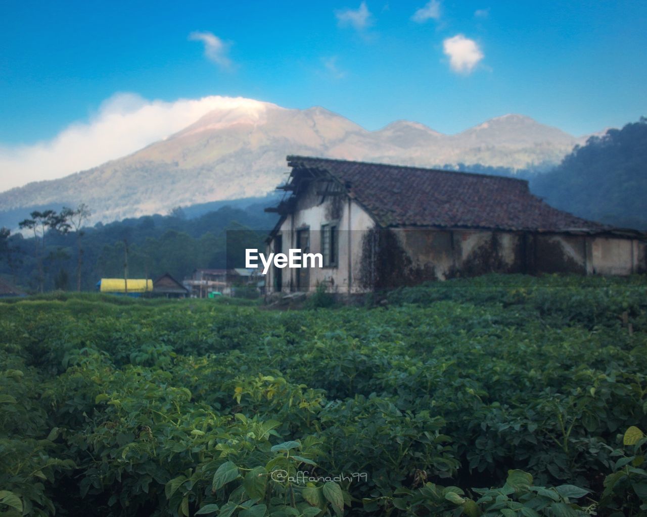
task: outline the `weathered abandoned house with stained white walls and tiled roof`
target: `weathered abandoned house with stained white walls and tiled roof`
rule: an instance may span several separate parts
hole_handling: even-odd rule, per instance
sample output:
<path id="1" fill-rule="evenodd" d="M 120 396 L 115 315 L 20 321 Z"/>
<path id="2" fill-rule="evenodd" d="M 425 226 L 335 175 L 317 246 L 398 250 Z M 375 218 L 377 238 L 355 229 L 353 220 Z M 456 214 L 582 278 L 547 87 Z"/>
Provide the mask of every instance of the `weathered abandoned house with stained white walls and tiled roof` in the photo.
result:
<path id="1" fill-rule="evenodd" d="M 489 272 L 645 271 L 645 233 L 555 209 L 526 180 L 288 156 L 267 253 L 321 253 L 322 268 L 270 268 L 267 293 L 362 293 Z"/>

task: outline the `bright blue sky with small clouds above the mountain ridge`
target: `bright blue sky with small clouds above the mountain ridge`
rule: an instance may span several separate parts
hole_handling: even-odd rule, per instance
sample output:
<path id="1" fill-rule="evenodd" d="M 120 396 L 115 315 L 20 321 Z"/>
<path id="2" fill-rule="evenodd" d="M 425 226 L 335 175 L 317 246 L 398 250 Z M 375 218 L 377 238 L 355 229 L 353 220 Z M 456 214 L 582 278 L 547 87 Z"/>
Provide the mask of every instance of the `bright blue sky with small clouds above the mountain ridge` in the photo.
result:
<path id="1" fill-rule="evenodd" d="M 641 1 L 134 4 L 0 3 L 0 147 L 52 139 L 118 92 L 445 133 L 514 112 L 578 136 L 647 114 Z"/>

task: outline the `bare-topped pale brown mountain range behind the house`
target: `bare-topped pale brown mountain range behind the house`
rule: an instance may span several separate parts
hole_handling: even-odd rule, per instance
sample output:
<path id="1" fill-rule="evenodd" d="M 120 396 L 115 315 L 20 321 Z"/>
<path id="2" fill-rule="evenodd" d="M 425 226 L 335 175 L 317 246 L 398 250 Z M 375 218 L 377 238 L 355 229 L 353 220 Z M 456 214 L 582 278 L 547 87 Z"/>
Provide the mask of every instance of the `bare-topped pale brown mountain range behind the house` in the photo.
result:
<path id="1" fill-rule="evenodd" d="M 520 169 L 558 163 L 578 140 L 529 117 L 506 115 L 454 135 L 397 121 L 378 131 L 321 107 L 285 109 L 247 100 L 207 113 L 136 153 L 65 178 L 0 193 L 0 224 L 31 209 L 92 207 L 94 222 L 264 196 L 289 169 L 287 154 L 419 165 L 482 164 Z M 10 224 L 11 223 L 11 224 Z"/>

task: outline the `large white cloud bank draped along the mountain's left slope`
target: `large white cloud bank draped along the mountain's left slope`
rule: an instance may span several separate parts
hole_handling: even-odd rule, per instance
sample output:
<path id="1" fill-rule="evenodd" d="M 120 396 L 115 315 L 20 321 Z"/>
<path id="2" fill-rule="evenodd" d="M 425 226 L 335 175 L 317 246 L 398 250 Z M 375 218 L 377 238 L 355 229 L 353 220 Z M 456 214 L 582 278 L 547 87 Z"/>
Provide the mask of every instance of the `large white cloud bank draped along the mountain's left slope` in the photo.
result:
<path id="1" fill-rule="evenodd" d="M 267 103 L 220 96 L 173 102 L 115 94 L 89 121 L 78 121 L 47 142 L 0 144 L 0 189 L 54 180 L 134 153 L 181 131 L 215 109 L 258 116 Z"/>

